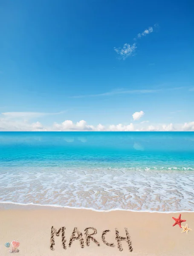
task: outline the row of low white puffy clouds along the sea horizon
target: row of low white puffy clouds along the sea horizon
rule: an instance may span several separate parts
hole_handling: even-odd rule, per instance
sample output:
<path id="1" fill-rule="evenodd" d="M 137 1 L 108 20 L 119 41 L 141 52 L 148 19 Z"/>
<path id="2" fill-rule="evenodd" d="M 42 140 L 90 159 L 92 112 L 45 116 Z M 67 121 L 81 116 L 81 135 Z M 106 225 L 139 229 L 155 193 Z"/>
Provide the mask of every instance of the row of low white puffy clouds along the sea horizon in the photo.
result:
<path id="1" fill-rule="evenodd" d="M 141 111 L 140 111 L 141 112 Z M 136 113 L 140 113 L 136 112 Z M 142 111 L 143 112 L 143 111 Z M 141 115 L 141 114 L 140 114 Z M 29 122 L 26 119 L 0 117 L 0 131 L 194 131 L 194 121 L 184 124 L 148 125 L 147 122 L 128 125 L 88 125 L 85 120 L 73 123 L 71 120 L 54 122 L 50 127 L 41 122 Z"/>

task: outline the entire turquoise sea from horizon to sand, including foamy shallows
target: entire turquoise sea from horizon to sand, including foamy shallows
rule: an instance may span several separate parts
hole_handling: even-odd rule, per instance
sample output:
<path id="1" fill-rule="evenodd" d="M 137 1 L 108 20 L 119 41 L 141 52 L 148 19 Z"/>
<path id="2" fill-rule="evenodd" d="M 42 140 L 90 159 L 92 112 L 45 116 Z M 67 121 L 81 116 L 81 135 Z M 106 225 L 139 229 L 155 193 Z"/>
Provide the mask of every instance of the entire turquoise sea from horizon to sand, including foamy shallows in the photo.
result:
<path id="1" fill-rule="evenodd" d="M 194 132 L 0 132 L 0 202 L 194 211 Z"/>

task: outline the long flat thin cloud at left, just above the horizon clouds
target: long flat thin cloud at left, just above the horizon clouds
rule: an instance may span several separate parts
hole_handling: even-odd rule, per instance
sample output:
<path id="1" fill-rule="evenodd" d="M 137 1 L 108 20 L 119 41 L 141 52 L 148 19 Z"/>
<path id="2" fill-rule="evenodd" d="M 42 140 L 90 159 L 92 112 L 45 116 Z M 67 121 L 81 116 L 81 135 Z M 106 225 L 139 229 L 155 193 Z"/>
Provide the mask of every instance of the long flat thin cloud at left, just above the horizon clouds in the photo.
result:
<path id="1" fill-rule="evenodd" d="M 37 118 L 41 116 L 50 116 L 50 115 L 59 115 L 65 113 L 66 111 L 61 111 L 57 113 L 41 113 L 41 112 L 3 112 L 1 113 L 3 116 L 7 118 Z"/>

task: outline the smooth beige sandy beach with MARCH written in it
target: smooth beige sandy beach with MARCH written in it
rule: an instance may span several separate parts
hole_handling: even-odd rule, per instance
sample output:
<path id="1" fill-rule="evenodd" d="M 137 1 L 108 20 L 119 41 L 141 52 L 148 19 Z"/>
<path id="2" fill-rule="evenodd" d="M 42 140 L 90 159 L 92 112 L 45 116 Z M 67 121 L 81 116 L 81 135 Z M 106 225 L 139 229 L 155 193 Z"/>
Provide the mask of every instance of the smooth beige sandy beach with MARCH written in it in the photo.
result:
<path id="1" fill-rule="evenodd" d="M 20 242 L 19 252 L 15 254 L 18 256 L 193 255 L 194 232 L 181 233 L 183 229 L 178 225 L 172 227 L 172 217 L 178 216 L 177 212 L 97 212 L 90 209 L 1 204 L 0 256 L 10 255 L 9 248 L 4 244 L 12 240 Z M 181 218 L 186 220 L 182 226 L 188 224 L 189 228 L 194 229 L 194 212 L 182 212 Z M 63 245 L 62 233 L 51 239 L 52 227 L 53 231 L 65 227 L 61 229 L 66 240 Z M 115 229 L 119 232 L 117 236 L 126 237 L 125 228 L 130 241 L 121 241 L 119 250 Z M 72 236 L 74 229 L 75 235 Z M 97 233 L 92 236 L 94 239 L 90 239 L 95 229 Z M 104 230 L 110 231 L 103 233 Z M 78 236 L 79 239 L 74 239 Z M 69 240 L 72 242 L 70 247 Z M 54 250 L 51 250 L 51 244 Z"/>

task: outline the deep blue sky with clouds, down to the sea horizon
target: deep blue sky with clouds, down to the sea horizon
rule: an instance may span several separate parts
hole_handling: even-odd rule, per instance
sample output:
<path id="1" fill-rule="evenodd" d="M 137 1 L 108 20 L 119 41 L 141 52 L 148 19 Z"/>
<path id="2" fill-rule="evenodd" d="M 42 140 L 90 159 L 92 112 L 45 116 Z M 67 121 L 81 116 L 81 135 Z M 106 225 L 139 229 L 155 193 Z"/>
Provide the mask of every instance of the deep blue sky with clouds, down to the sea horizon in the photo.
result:
<path id="1" fill-rule="evenodd" d="M 194 130 L 193 9 L 0 0 L 0 131 Z"/>

